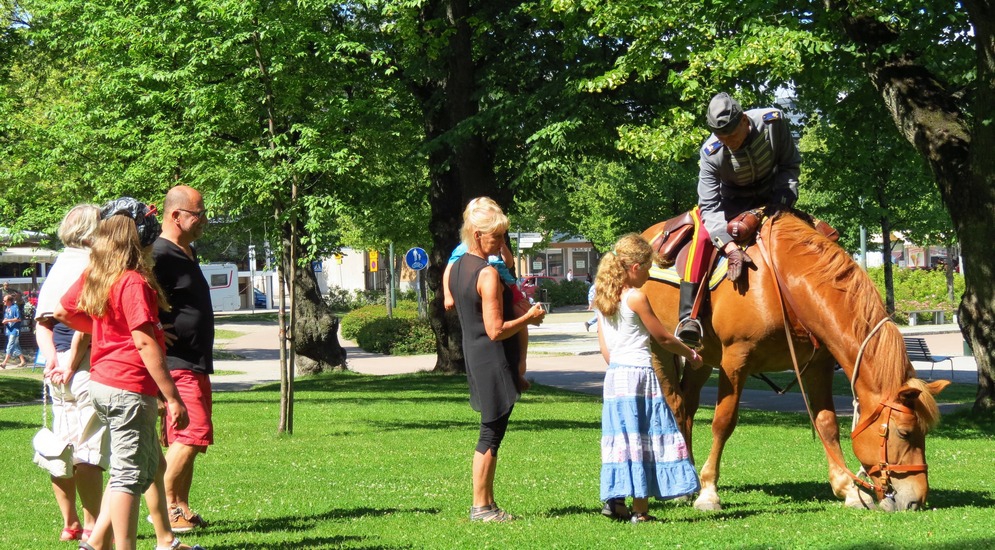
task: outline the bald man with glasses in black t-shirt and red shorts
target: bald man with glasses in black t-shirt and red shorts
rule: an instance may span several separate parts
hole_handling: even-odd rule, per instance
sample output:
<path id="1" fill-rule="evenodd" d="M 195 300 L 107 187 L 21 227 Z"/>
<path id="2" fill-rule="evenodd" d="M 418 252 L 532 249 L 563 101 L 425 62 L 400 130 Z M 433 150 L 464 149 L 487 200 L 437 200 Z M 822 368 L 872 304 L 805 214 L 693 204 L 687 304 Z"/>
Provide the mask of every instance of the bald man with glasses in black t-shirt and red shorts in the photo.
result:
<path id="1" fill-rule="evenodd" d="M 190 424 L 167 427 L 166 501 L 174 532 L 184 533 L 206 522 L 190 509 L 190 486 L 197 455 L 214 443 L 211 424 L 211 378 L 214 372 L 214 310 L 211 287 L 200 271 L 192 243 L 207 227 L 204 198 L 192 187 L 178 185 L 166 193 L 162 234 L 152 248 L 155 276 L 172 311 L 159 313 L 166 329 L 166 365 L 187 405 Z"/>

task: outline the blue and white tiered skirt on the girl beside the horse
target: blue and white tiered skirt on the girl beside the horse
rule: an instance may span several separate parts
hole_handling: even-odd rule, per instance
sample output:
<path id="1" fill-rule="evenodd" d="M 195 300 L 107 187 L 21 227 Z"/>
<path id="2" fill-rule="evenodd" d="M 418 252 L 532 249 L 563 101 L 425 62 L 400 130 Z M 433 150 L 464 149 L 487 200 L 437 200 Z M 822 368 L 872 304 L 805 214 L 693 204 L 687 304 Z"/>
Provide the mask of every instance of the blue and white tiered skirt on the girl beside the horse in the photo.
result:
<path id="1" fill-rule="evenodd" d="M 698 473 L 652 367 L 612 363 L 601 413 L 601 500 L 696 492 Z"/>

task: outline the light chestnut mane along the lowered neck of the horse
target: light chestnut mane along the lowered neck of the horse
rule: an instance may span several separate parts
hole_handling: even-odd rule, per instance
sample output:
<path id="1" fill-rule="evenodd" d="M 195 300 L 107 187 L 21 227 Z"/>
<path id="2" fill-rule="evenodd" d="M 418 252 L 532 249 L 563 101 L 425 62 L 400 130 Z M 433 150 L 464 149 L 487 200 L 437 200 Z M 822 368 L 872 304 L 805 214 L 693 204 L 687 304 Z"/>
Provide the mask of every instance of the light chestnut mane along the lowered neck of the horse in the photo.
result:
<path id="1" fill-rule="evenodd" d="M 845 250 L 798 217 L 782 214 L 773 223 L 776 246 L 787 246 L 787 257 L 812 260 L 797 276 L 809 281 L 812 288 L 826 285 L 846 297 L 843 311 L 850 318 L 850 335 L 859 346 L 874 326 L 888 317 L 870 277 Z M 861 363 L 858 376 L 869 376 L 872 387 L 885 394 L 897 391 L 915 375 L 902 333 L 891 322 L 885 322 L 868 340 Z"/>

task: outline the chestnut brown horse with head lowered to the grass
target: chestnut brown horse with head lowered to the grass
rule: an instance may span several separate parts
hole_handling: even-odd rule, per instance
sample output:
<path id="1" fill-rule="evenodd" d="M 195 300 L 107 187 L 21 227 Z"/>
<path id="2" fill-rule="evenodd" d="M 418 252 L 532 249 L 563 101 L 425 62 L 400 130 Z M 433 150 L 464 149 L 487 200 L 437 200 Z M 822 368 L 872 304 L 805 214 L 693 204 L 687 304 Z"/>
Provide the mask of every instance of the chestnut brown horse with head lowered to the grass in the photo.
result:
<path id="1" fill-rule="evenodd" d="M 643 233 L 653 237 L 659 225 Z M 803 382 L 815 428 L 829 461 L 833 492 L 847 506 L 913 510 L 928 491 L 925 437 L 939 418 L 934 395 L 949 382 L 926 384 L 915 378 L 898 327 L 867 275 L 834 242 L 794 215 L 768 219 L 761 239 L 790 294 L 797 317 L 819 342 L 793 338 L 798 361 L 809 365 Z M 680 372 L 674 356 L 654 347 L 654 367 L 688 443 L 702 386 L 719 369 L 718 400 L 712 421 L 712 447 L 700 465 L 700 510 L 721 509 L 719 461 L 736 427 L 739 399 L 750 374 L 793 370 L 778 287 L 763 255 L 748 249 L 756 268 L 734 285 L 722 281 L 711 294 L 711 314 L 702 319 L 706 367 Z M 676 326 L 678 290 L 655 281 L 643 287 L 653 309 L 670 330 Z M 846 467 L 832 399 L 835 362 L 852 381 L 860 425 L 853 452 L 863 466 L 859 476 Z M 856 374 L 855 374 L 856 372 Z M 856 378 L 854 378 L 856 376 Z M 870 428 L 870 429 L 865 429 Z M 690 446 L 690 445 L 689 445 Z"/>

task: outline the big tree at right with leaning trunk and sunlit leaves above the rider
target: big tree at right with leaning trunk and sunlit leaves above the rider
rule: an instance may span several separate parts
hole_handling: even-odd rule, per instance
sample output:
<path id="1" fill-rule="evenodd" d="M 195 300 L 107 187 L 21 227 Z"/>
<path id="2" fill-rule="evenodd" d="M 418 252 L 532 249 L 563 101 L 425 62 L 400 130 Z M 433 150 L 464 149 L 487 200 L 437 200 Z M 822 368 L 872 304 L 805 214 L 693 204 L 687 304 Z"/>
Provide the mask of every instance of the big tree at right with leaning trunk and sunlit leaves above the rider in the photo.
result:
<path id="1" fill-rule="evenodd" d="M 688 121 L 696 120 L 700 106 L 718 90 L 735 88 L 744 103 L 762 104 L 779 86 L 793 84 L 803 103 L 811 100 L 809 112 L 814 112 L 850 92 L 854 71 L 869 77 L 901 135 L 929 164 L 950 214 L 965 258 L 960 320 L 978 361 L 975 410 L 995 409 L 995 260 L 985 250 L 995 231 L 990 224 L 995 159 L 976 152 L 987 152 L 995 139 L 995 125 L 989 123 L 995 115 L 990 2 L 646 6 L 560 0 L 555 5 L 589 12 L 593 32 L 631 44 L 592 86 L 659 79 L 682 91 L 685 109 L 660 117 L 651 126 L 657 132 L 635 133 L 644 143 L 634 150 L 681 158 L 680 140 L 667 143 L 657 136 L 700 135 L 700 123 Z M 836 47 L 841 42 L 844 47 Z M 688 104 L 696 106 L 692 114 L 682 114 Z"/>

